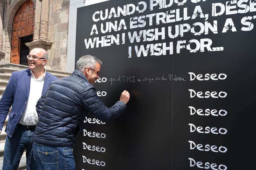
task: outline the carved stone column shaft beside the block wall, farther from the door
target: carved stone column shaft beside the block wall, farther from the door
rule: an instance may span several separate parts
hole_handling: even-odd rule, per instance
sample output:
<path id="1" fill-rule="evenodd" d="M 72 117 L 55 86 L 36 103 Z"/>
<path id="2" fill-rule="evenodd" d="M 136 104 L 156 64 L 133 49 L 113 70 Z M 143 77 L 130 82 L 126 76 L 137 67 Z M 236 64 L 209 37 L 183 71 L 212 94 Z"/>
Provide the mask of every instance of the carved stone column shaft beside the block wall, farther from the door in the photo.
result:
<path id="1" fill-rule="evenodd" d="M 41 21 L 40 21 L 40 31 L 39 39 L 47 40 L 48 35 L 48 0 L 42 1 L 42 10 L 41 10 Z"/>

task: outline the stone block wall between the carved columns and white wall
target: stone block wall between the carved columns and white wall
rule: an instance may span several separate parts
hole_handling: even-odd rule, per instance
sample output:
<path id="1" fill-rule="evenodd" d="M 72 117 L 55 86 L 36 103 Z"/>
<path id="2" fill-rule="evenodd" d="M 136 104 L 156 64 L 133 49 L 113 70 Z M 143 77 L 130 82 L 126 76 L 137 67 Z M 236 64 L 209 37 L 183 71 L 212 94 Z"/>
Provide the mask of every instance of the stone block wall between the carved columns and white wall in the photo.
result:
<path id="1" fill-rule="evenodd" d="M 48 39 L 53 43 L 47 68 L 66 71 L 69 0 L 49 0 Z"/>

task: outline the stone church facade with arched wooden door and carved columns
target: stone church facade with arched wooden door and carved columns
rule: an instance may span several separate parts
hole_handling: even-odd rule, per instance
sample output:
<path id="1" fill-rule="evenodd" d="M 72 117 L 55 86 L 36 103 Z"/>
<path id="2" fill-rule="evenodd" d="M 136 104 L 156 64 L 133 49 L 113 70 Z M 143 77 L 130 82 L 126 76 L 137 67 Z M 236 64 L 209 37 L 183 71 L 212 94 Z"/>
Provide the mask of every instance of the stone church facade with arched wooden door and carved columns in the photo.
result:
<path id="1" fill-rule="evenodd" d="M 42 47 L 46 69 L 67 71 L 69 0 L 0 0 L 0 64 L 26 65 Z"/>

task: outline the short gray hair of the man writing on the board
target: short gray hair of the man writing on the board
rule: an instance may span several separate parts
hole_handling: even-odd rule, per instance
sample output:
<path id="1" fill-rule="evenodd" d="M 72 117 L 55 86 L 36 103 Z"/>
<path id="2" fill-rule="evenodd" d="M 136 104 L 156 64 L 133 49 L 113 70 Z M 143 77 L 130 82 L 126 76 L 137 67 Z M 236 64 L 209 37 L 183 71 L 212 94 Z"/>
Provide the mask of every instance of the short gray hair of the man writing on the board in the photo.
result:
<path id="1" fill-rule="evenodd" d="M 76 62 L 76 69 L 81 72 L 84 72 L 84 68 L 87 68 L 87 67 L 95 69 L 96 63 L 99 63 L 100 65 L 102 64 L 102 62 L 96 57 L 92 55 L 84 55 Z"/>

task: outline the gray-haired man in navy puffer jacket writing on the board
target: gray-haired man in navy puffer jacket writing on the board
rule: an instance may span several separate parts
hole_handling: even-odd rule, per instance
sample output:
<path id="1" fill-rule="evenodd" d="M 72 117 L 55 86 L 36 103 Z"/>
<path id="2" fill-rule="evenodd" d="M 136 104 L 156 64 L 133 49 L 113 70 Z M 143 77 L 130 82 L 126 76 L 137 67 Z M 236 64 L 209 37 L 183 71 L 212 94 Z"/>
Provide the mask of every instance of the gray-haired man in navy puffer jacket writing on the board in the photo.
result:
<path id="1" fill-rule="evenodd" d="M 68 77 L 52 81 L 36 105 L 38 123 L 33 150 L 41 169 L 75 169 L 72 148 L 81 131 L 84 117 L 91 113 L 103 122 L 119 117 L 126 109 L 130 94 L 124 90 L 120 101 L 107 108 L 97 96 L 93 84 L 99 79 L 102 62 L 85 55 Z"/>

